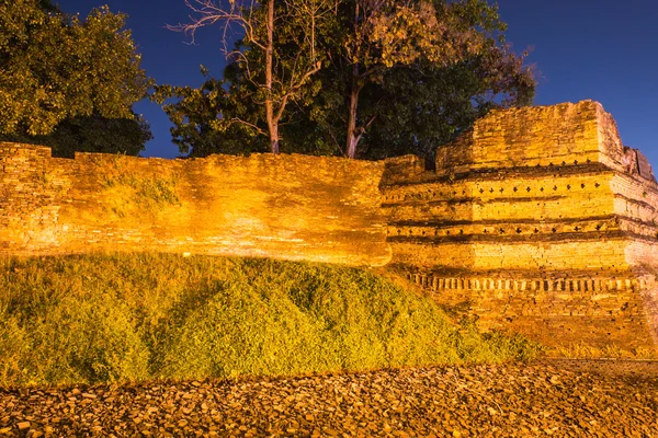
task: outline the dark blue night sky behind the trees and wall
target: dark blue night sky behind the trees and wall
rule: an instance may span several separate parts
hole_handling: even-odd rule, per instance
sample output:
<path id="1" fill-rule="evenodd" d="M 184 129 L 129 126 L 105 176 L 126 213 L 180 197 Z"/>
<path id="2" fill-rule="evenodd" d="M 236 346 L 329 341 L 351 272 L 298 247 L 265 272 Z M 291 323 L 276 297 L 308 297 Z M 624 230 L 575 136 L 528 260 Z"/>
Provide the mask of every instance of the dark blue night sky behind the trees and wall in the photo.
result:
<path id="1" fill-rule="evenodd" d="M 127 26 L 143 55 L 143 67 L 158 83 L 198 85 L 203 64 L 222 74 L 218 28 L 201 32 L 197 45 L 166 24 L 186 22 L 183 0 L 56 0 L 86 16 L 93 7 L 129 15 Z M 622 140 L 639 148 L 658 166 L 658 1 L 499 0 L 515 51 L 532 47 L 540 83 L 536 105 L 599 101 L 617 122 Z M 151 124 L 155 139 L 145 155 L 172 158 L 169 120 L 161 108 L 140 102 L 136 112 Z"/>

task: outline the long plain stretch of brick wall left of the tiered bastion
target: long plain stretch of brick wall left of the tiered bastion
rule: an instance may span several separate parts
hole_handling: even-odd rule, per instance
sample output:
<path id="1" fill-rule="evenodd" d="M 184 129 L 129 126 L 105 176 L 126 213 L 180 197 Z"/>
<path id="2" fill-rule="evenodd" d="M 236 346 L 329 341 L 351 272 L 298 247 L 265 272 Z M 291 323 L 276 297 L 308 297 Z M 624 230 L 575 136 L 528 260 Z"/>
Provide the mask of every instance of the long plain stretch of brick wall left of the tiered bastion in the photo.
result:
<path id="1" fill-rule="evenodd" d="M 162 160 L 0 143 L 0 254 L 164 251 L 384 265 L 382 163 Z"/>

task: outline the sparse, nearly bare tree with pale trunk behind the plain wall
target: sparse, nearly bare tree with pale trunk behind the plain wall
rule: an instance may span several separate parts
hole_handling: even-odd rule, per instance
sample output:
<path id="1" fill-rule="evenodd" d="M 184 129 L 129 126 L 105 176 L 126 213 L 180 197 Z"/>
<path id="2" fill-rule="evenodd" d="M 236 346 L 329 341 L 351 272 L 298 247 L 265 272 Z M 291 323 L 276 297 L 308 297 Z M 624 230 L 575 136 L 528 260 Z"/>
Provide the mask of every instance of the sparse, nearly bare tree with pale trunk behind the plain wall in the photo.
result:
<path id="1" fill-rule="evenodd" d="M 320 70 L 325 54 L 318 49 L 318 28 L 337 13 L 340 0 L 185 0 L 191 22 L 168 26 L 184 32 L 194 43 L 198 28 L 222 26 L 222 51 L 237 62 L 243 79 L 258 90 L 250 94 L 264 107 L 265 126 L 258 120 L 223 115 L 219 127 L 241 124 L 269 136 L 270 150 L 279 153 L 279 126 L 292 101 L 308 92 L 310 78 Z M 241 37 L 239 44 L 232 41 Z M 285 44 L 285 50 L 277 45 Z M 291 46 L 295 49 L 291 50 Z M 264 59 L 264 65 L 263 65 Z"/>

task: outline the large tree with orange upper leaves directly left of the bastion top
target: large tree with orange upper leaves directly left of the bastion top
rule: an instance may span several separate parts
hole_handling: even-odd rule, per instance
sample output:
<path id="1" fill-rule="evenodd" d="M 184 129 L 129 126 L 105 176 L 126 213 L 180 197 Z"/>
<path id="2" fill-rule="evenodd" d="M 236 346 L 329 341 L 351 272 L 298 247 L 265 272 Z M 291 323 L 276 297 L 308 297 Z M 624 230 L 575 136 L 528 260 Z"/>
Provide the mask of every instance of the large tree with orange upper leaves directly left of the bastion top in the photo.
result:
<path id="1" fill-rule="evenodd" d="M 344 50 L 333 71 L 327 71 L 328 82 L 340 84 L 328 92 L 347 99 L 326 107 L 329 114 L 319 122 L 337 147 L 336 139 L 347 138 L 348 157 L 405 151 L 431 158 L 427 149 L 433 154 L 438 145 L 454 138 L 446 132 L 465 130 L 473 115 L 484 115 L 497 101 L 500 106 L 532 101 L 532 72 L 523 67 L 523 56 L 503 45 L 506 25 L 486 1 L 347 4 L 354 13 L 351 23 L 343 22 Z M 314 118 L 317 110 L 309 112 L 309 122 Z M 362 145 L 368 136 L 377 141 Z"/>

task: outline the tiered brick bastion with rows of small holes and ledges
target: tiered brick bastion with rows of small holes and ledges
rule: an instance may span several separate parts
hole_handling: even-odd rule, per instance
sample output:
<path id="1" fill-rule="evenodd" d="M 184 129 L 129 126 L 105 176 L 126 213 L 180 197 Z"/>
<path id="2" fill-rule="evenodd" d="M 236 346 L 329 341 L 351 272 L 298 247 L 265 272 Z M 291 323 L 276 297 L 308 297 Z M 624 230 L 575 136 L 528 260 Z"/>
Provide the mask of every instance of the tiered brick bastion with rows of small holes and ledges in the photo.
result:
<path id="1" fill-rule="evenodd" d="M 436 155 L 387 162 L 394 265 L 485 328 L 656 353 L 658 185 L 600 104 L 492 112 Z"/>

